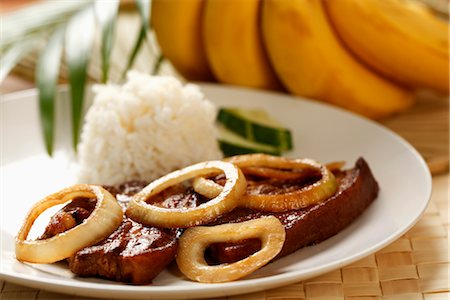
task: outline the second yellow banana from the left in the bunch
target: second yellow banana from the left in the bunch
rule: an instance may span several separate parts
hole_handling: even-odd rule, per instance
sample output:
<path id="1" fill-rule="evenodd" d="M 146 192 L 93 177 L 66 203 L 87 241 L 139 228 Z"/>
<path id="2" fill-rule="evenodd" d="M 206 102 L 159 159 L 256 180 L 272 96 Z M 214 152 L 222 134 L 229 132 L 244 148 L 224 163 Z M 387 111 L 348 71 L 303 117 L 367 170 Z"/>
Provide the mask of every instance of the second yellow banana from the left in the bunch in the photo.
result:
<path id="1" fill-rule="evenodd" d="M 215 77 L 229 84 L 281 89 L 265 53 L 259 0 L 207 0 L 203 42 Z"/>

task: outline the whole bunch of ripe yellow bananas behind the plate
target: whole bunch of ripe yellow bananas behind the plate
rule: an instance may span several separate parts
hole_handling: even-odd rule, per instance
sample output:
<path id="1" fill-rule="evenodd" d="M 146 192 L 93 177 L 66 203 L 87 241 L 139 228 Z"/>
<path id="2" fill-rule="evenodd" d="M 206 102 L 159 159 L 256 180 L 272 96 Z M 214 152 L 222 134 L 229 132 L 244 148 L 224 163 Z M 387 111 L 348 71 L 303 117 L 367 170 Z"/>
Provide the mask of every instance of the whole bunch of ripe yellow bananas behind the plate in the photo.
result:
<path id="1" fill-rule="evenodd" d="M 287 89 L 371 118 L 449 91 L 448 24 L 416 0 L 153 0 L 188 80 Z M 212 75 L 211 75 L 212 74 Z"/>

